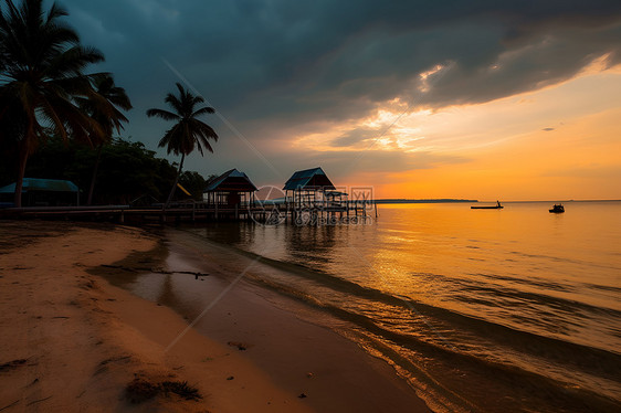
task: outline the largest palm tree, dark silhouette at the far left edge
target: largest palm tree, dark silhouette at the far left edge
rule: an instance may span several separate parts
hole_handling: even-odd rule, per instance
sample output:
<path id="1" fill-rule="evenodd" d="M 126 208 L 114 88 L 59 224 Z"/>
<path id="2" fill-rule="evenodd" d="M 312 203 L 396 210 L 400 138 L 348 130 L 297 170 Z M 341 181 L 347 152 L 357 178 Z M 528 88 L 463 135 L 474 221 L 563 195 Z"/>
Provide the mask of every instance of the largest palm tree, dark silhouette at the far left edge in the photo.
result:
<path id="1" fill-rule="evenodd" d="M 18 144 L 14 204 L 21 206 L 25 165 L 45 139 L 46 126 L 65 140 L 72 136 L 92 142 L 92 136 L 103 134 L 75 98 L 94 96 L 83 71 L 104 56 L 80 44 L 77 33 L 61 20 L 66 11 L 56 3 L 46 13 L 42 0 L 23 0 L 20 7 L 12 0 L 4 3 L 7 10 L 0 10 L 0 139 Z M 9 118 L 11 113 L 17 116 Z"/>

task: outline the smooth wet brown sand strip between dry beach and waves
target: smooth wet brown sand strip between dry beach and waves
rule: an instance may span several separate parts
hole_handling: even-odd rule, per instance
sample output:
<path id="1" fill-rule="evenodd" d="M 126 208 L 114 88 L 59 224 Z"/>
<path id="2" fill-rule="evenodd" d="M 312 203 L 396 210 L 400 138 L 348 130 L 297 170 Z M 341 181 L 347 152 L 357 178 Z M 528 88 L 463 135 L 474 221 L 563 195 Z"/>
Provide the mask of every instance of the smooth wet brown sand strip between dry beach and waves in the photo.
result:
<path id="1" fill-rule="evenodd" d="M 256 285 L 263 272 L 278 269 L 185 231 L 168 229 L 165 237 L 170 253 L 166 269 L 210 275 L 197 280 L 155 274 L 148 282 L 143 276 L 135 287 L 138 295 L 175 308 L 196 321 L 198 331 L 223 345 L 243 343 L 244 356 L 282 388 L 307 395 L 305 403 L 317 411 L 429 411 L 385 360 L 320 322 L 327 317 L 323 311 Z M 335 388 L 339 394 L 334 394 Z"/>

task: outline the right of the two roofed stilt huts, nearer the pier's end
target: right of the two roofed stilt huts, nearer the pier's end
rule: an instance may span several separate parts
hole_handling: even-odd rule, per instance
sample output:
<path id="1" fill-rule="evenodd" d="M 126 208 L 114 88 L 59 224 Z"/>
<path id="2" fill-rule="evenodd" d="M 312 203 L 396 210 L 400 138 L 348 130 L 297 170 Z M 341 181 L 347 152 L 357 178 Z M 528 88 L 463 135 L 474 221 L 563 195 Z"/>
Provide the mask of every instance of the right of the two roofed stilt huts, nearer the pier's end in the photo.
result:
<path id="1" fill-rule="evenodd" d="M 294 172 L 286 181 L 286 202 L 293 209 L 315 208 L 318 202 L 325 202 L 326 192 L 336 190 L 328 176 L 319 167 Z"/>

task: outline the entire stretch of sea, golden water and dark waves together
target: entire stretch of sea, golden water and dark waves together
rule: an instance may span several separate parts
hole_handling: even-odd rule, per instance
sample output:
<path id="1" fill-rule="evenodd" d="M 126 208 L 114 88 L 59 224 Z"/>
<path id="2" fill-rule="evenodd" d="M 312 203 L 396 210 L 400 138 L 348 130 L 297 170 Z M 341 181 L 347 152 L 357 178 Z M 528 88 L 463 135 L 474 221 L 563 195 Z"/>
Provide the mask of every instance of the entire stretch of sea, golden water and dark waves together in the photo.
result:
<path id="1" fill-rule="evenodd" d="M 438 410 L 621 411 L 621 202 L 549 206 L 188 231 L 290 268 L 262 283 L 346 321 Z"/>

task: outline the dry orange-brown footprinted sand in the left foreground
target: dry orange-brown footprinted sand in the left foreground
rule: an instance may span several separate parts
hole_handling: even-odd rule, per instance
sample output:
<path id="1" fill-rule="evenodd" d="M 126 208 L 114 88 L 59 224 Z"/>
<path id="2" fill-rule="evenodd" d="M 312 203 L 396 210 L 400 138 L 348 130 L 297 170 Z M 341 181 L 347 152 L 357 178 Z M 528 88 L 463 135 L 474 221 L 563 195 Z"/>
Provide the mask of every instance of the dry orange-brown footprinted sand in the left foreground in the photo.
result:
<path id="1" fill-rule="evenodd" d="M 1 412 L 317 411 L 256 360 L 193 329 L 165 351 L 187 321 L 86 272 L 151 251 L 156 237 L 42 222 L 0 222 L 0 234 Z M 299 346 L 316 357 L 318 349 Z M 370 358 L 354 347 L 354 354 Z M 323 398 L 343 405 L 341 395 L 370 394 L 382 375 L 368 379 L 368 389 L 335 385 Z M 406 393 L 398 389 L 397 404 L 383 411 L 428 411 Z"/>

